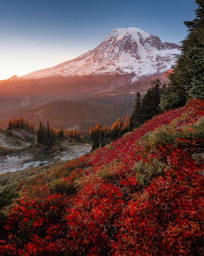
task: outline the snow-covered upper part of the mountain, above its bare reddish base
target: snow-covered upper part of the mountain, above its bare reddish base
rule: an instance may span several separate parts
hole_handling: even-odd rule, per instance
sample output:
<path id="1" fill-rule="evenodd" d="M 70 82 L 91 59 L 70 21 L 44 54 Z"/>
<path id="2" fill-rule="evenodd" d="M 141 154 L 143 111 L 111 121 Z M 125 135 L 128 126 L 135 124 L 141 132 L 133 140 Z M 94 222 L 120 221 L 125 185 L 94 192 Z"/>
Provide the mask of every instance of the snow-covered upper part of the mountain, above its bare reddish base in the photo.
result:
<path id="1" fill-rule="evenodd" d="M 150 35 L 142 29 L 114 29 L 93 50 L 71 61 L 21 78 L 128 74 L 133 82 L 169 70 L 175 62 L 174 54 L 179 54 L 179 45 L 161 42 L 158 36 Z"/>

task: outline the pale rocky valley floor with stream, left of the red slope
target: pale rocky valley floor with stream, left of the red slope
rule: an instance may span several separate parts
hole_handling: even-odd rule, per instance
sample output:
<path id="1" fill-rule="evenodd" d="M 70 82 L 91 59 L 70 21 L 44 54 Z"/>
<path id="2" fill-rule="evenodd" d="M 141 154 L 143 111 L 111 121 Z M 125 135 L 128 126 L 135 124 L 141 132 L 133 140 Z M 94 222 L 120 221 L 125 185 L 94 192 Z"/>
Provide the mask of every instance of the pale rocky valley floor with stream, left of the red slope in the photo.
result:
<path id="1" fill-rule="evenodd" d="M 4 145 L 6 145 L 6 142 Z M 49 151 L 37 148 L 36 145 L 13 148 L 11 146 L 0 148 L 0 153 L 4 151 L 4 154 L 0 154 L 0 174 L 72 160 L 87 154 L 91 149 L 89 144 L 75 144 L 68 141 L 61 142 L 60 145 L 53 147 Z"/>

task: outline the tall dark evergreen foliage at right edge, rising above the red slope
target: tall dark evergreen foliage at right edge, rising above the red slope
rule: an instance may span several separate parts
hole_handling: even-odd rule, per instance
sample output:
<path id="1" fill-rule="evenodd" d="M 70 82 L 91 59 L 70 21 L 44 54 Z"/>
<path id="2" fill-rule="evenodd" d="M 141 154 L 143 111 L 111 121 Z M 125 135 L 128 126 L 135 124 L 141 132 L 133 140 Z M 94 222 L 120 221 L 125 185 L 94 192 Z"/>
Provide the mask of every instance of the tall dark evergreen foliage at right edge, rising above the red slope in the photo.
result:
<path id="1" fill-rule="evenodd" d="M 184 22 L 189 34 L 182 41 L 181 54 L 170 74 L 170 84 L 165 96 L 161 97 L 162 110 L 183 106 L 191 98 L 204 99 L 204 1 L 195 2 L 198 4 L 196 18 Z M 167 99 L 168 96 L 173 102 Z"/>

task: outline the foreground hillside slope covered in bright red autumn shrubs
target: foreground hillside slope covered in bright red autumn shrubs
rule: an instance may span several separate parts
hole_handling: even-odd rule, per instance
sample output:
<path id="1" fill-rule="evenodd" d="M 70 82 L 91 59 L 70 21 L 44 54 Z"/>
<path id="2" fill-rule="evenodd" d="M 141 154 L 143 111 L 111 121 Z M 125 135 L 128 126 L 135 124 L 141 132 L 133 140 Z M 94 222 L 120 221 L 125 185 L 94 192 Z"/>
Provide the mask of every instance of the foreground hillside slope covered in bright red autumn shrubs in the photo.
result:
<path id="1" fill-rule="evenodd" d="M 19 186 L 1 254 L 202 255 L 203 116 L 192 100 Z"/>

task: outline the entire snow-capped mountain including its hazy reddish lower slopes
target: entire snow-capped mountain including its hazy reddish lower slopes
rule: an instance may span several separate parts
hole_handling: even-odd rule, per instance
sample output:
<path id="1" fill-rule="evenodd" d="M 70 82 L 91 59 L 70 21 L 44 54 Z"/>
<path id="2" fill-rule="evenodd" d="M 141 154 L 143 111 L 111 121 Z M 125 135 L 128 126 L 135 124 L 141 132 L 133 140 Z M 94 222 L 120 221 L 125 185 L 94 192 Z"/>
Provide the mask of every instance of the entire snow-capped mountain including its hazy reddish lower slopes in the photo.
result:
<path id="1" fill-rule="evenodd" d="M 179 45 L 161 42 L 141 29 L 114 29 L 96 48 L 71 61 L 1 80 L 0 119 L 25 116 L 56 100 L 89 100 L 96 105 L 132 102 L 152 80 L 168 81 L 164 72 L 178 53 Z"/>

